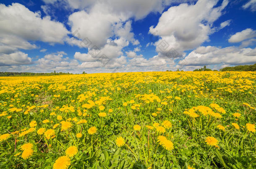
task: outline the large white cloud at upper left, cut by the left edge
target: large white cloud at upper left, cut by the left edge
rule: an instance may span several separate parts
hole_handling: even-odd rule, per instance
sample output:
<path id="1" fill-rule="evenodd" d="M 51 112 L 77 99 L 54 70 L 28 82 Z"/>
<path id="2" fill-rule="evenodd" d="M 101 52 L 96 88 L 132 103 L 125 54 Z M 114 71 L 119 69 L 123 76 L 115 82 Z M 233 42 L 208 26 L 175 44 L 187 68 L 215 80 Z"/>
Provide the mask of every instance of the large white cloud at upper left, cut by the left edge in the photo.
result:
<path id="1" fill-rule="evenodd" d="M 0 37 L 10 35 L 23 40 L 40 40 L 49 43 L 63 43 L 68 30 L 50 16 L 41 18 L 40 12 L 32 12 L 24 5 L 0 4 Z"/>

